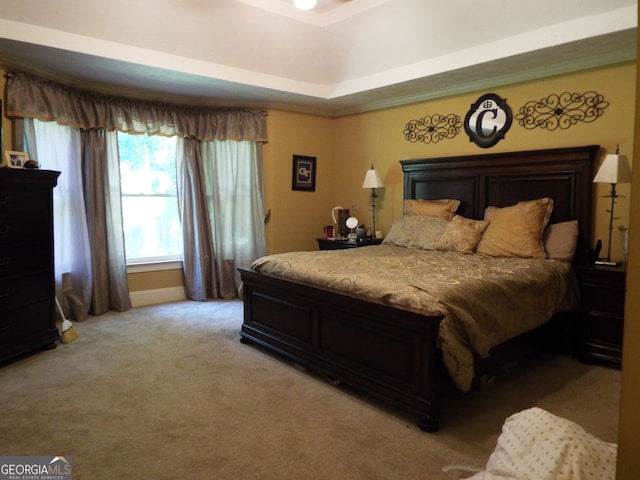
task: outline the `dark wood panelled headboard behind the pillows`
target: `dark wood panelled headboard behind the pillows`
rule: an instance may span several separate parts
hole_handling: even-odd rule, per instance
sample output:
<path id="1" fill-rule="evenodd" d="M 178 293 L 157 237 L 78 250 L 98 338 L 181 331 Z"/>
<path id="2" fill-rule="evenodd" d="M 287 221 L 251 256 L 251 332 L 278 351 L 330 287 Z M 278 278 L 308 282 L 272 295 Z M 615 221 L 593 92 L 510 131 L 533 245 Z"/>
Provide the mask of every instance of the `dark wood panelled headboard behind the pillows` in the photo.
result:
<path id="1" fill-rule="evenodd" d="M 579 252 L 592 246 L 593 164 L 599 145 L 401 160 L 404 199 L 455 198 L 457 213 L 481 219 L 488 206 L 551 197 L 550 223 L 577 219 Z"/>

